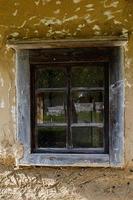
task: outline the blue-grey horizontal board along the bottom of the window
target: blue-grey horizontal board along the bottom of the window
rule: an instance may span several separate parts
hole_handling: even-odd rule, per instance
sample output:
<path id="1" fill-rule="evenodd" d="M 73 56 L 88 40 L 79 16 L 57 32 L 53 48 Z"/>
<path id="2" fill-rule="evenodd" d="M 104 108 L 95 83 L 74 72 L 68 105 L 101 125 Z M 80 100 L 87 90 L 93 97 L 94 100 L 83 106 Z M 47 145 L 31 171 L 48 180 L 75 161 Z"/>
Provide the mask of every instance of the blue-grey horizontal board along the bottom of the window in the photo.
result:
<path id="1" fill-rule="evenodd" d="M 31 153 L 18 160 L 21 166 L 109 167 L 108 154 L 51 154 Z"/>

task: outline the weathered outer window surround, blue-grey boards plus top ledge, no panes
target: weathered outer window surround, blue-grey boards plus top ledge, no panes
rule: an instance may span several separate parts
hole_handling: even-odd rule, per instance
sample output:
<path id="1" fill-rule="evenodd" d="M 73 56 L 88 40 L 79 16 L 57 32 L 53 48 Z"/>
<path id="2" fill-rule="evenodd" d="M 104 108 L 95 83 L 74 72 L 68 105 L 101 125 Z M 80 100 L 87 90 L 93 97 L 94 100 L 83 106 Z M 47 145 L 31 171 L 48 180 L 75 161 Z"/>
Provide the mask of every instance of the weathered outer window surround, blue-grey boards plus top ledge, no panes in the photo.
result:
<path id="1" fill-rule="evenodd" d="M 38 166 L 115 166 L 124 164 L 124 55 L 126 39 L 14 41 L 9 46 L 16 50 L 17 86 L 17 139 L 24 147 L 23 158 L 17 165 Z M 30 65 L 29 49 L 114 47 L 110 60 L 109 154 L 51 154 L 31 152 L 30 119 Z"/>

